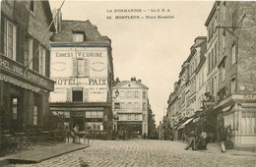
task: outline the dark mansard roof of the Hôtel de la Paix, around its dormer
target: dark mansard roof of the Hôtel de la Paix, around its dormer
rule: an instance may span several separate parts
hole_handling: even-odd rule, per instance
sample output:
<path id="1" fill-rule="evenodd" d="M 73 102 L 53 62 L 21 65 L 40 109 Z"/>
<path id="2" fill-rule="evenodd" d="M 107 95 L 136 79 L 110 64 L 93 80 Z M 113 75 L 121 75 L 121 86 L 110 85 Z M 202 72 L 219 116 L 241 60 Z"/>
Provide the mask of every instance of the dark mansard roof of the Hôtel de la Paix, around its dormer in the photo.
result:
<path id="1" fill-rule="evenodd" d="M 85 32 L 85 41 L 74 42 L 73 41 L 73 32 L 80 31 Z M 89 44 L 110 44 L 111 40 L 107 36 L 102 36 L 96 26 L 88 21 L 67 21 L 63 20 L 61 22 L 61 31 L 54 33 L 51 40 L 53 42 L 72 42 L 72 43 L 89 43 Z"/>

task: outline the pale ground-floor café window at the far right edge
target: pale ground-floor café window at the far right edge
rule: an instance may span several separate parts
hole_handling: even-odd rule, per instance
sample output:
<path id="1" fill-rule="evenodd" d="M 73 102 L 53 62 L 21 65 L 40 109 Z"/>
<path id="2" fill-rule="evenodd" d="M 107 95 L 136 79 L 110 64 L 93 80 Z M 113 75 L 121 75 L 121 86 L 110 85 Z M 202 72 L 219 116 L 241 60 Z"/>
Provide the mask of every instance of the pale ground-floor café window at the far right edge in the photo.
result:
<path id="1" fill-rule="evenodd" d="M 256 134 L 256 113 L 254 111 L 242 112 L 241 134 Z"/>

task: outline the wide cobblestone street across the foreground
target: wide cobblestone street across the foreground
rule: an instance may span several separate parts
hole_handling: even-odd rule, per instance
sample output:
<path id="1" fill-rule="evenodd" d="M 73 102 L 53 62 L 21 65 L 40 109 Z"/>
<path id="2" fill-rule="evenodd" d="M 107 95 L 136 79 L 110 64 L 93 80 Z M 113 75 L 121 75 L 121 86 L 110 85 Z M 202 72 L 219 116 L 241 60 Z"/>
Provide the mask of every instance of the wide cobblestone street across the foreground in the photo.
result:
<path id="1" fill-rule="evenodd" d="M 17 166 L 255 166 L 255 156 L 184 150 L 185 143 L 168 140 L 91 140 L 91 146 L 72 153 Z M 228 150 L 227 150 L 228 151 Z"/>

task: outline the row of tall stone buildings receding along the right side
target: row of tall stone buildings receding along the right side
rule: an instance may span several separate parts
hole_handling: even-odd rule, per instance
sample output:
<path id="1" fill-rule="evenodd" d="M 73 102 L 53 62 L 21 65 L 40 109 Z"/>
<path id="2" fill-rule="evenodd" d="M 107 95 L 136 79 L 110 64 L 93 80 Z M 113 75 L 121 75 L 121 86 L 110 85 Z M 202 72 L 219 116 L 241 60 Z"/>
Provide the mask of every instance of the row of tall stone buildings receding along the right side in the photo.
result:
<path id="1" fill-rule="evenodd" d="M 184 124 L 199 122 L 208 131 L 212 129 L 208 132 L 212 140 L 219 140 L 220 129 L 229 127 L 229 139 L 235 148 L 255 149 L 255 11 L 255 2 L 215 2 L 205 23 L 208 34 L 205 53 L 200 56 L 198 67 L 193 72 L 196 86 L 193 75 L 189 73 L 188 106 L 199 112 L 195 113 L 194 118 L 186 116 L 177 121 L 175 113 L 181 110 L 176 108 L 179 106 L 176 104 L 182 80 L 179 78 L 168 100 L 168 114 L 172 115 L 169 122 L 174 132 Z M 189 72 L 190 68 L 193 69 L 191 60 L 188 58 L 184 62 L 188 64 Z M 192 96 L 194 87 L 196 105 Z"/>

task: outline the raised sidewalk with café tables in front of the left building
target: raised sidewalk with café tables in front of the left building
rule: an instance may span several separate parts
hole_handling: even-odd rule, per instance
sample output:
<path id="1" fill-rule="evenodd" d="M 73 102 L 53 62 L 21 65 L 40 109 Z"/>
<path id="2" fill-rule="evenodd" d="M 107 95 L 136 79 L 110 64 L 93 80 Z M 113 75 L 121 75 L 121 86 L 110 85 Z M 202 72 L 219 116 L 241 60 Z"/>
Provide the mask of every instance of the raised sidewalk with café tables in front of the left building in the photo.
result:
<path id="1" fill-rule="evenodd" d="M 7 154 L 0 157 L 0 166 L 14 163 L 38 163 L 89 146 L 89 144 L 65 142 L 58 143 L 55 146 L 33 145 L 33 150 L 22 150 L 21 153 Z"/>

